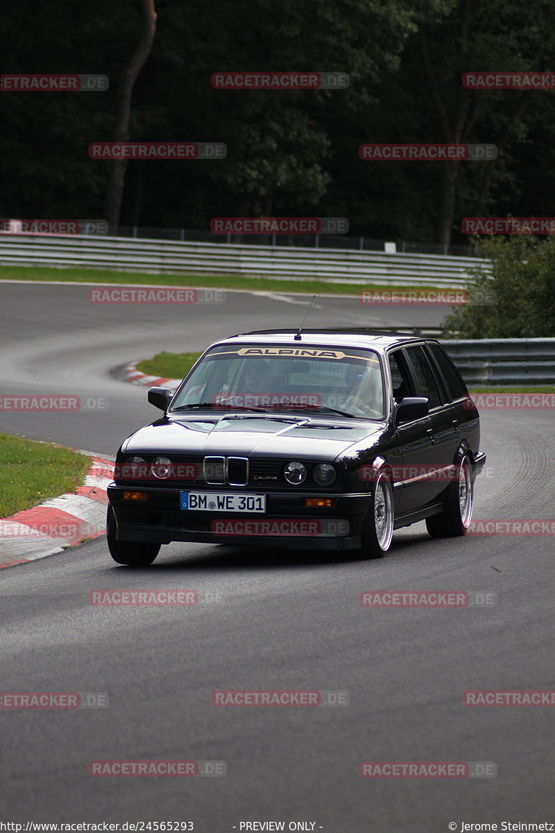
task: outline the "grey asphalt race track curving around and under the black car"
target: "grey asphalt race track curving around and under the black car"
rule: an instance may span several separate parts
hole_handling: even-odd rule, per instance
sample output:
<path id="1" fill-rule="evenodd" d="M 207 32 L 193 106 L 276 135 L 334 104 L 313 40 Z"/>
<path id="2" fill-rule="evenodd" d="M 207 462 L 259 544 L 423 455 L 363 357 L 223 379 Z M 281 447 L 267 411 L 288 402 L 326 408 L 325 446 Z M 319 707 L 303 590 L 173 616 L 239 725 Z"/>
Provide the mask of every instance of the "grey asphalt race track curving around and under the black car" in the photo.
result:
<path id="1" fill-rule="evenodd" d="M 153 416 L 111 367 L 292 326 L 306 298 L 228 293 L 206 307 L 93 307 L 84 287 L 0 285 L 2 395 L 102 397 L 0 430 L 102 454 Z M 311 326 L 428 324 L 443 311 L 320 298 Z M 425 313 L 425 316 L 424 316 Z M 483 412 L 475 517 L 553 516 L 553 416 Z M 468 708 L 468 689 L 552 689 L 553 541 L 394 534 L 380 561 L 194 544 L 147 569 L 103 539 L 2 571 L 2 691 L 107 692 L 97 710 L 1 710 L 5 821 L 315 822 L 328 833 L 434 833 L 553 822 L 553 710 Z M 186 608 L 91 606 L 92 590 L 192 588 Z M 483 609 L 364 609 L 369 590 L 491 591 Z M 349 706 L 218 708 L 215 689 L 349 691 Z M 95 778 L 89 761 L 225 761 L 223 777 Z M 364 779 L 361 761 L 493 761 L 491 779 Z M 243 828 L 245 829 L 245 828 Z M 262 829 L 262 828 L 259 828 Z M 310 826 L 307 829 L 311 829 Z"/>

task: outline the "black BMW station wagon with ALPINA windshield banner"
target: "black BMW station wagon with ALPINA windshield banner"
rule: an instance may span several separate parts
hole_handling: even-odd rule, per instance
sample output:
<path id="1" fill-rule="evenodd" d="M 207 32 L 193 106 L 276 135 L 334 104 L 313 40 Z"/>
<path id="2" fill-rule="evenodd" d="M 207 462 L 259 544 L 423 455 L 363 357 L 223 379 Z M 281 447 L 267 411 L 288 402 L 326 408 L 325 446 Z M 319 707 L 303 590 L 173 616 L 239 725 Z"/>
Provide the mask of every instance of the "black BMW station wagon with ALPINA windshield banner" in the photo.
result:
<path id="1" fill-rule="evenodd" d="M 212 344 L 108 486 L 119 564 L 171 541 L 382 556 L 394 529 L 464 535 L 478 411 L 439 342 L 369 330 L 264 330 Z"/>

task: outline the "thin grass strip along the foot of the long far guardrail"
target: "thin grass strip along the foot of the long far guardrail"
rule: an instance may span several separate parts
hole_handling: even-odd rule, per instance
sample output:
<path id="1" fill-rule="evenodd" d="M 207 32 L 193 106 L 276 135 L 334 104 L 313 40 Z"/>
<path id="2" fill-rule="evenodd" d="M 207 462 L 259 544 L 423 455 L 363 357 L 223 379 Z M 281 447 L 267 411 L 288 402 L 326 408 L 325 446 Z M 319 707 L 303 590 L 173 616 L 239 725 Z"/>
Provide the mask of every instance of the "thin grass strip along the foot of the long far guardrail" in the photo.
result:
<path id="1" fill-rule="evenodd" d="M 323 283 L 321 281 L 276 281 L 271 277 L 242 275 L 173 275 L 150 272 L 116 272 L 111 269 L 54 269 L 52 267 L 0 266 L 0 281 L 57 281 L 77 283 L 121 283 L 141 286 L 214 287 L 271 292 L 300 292 L 315 295 L 350 295 L 359 292 L 437 292 L 438 287 L 386 287 L 373 283 Z M 448 287 L 442 287 L 447 289 Z"/>

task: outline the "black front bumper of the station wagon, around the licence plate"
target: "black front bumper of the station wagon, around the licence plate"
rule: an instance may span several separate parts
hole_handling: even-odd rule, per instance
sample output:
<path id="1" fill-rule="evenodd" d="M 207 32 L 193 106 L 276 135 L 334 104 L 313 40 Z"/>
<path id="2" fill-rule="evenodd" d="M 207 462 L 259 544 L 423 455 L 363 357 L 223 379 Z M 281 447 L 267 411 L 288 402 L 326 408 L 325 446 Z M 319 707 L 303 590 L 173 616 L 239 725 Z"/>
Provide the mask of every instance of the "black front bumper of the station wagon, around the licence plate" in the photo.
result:
<path id="1" fill-rule="evenodd" d="M 116 541 L 167 544 L 195 541 L 206 544 L 286 546 L 290 549 L 353 550 L 360 547 L 369 494 L 266 492 L 266 511 L 225 512 L 180 509 L 180 488 L 133 486 L 146 500 L 123 497 L 129 487 L 107 487 L 116 518 Z M 211 491 L 203 488 L 202 491 Z M 222 489 L 213 491 L 235 491 Z M 305 506 L 305 499 L 330 498 L 332 506 Z"/>

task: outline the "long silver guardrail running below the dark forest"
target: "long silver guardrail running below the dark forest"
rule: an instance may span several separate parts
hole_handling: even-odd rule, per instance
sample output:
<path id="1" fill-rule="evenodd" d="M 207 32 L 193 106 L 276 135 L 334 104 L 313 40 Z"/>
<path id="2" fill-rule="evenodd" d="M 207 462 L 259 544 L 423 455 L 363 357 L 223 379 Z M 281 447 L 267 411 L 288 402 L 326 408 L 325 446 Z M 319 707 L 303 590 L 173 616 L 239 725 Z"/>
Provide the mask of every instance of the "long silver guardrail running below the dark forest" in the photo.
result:
<path id="1" fill-rule="evenodd" d="M 28 234 L 0 234 L 0 264 L 435 287 L 463 286 L 488 267 L 477 257 Z"/>

